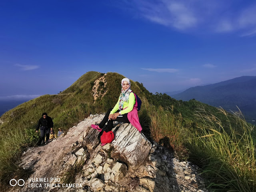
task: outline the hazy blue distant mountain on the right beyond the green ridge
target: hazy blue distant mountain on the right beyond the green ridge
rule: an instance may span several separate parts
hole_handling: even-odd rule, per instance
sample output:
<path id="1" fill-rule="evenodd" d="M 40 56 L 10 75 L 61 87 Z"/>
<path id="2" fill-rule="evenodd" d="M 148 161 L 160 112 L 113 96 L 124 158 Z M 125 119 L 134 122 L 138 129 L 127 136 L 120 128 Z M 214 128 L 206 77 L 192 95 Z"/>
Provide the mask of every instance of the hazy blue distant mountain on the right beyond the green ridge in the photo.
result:
<path id="1" fill-rule="evenodd" d="M 228 111 L 238 111 L 239 108 L 246 120 L 256 120 L 256 76 L 242 76 L 168 95 L 176 100 L 196 99 Z"/>

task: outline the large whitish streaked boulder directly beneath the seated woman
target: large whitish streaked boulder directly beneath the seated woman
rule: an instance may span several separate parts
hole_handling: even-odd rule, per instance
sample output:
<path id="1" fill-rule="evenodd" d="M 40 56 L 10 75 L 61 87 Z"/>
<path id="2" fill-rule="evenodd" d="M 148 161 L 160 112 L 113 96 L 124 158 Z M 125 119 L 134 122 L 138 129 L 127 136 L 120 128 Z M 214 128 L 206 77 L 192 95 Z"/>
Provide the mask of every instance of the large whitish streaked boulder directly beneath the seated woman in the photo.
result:
<path id="1" fill-rule="evenodd" d="M 122 124 L 112 142 L 116 156 L 135 168 L 142 164 L 151 150 L 152 144 L 132 124 Z"/>

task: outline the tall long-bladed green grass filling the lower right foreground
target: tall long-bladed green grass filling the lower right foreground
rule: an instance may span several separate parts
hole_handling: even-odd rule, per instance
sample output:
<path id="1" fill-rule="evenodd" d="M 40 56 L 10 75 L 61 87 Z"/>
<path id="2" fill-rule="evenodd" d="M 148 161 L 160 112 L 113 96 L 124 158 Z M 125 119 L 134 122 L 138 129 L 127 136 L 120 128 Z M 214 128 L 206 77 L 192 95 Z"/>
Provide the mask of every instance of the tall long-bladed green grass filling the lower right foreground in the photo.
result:
<path id="1" fill-rule="evenodd" d="M 186 135 L 190 158 L 202 166 L 209 186 L 214 191 L 256 191 L 255 145 L 253 129 L 244 119 L 236 116 L 236 125 L 222 109 L 229 126 L 213 114 L 198 110 L 197 117 L 203 124 Z M 239 132 L 237 128 L 242 127 Z"/>

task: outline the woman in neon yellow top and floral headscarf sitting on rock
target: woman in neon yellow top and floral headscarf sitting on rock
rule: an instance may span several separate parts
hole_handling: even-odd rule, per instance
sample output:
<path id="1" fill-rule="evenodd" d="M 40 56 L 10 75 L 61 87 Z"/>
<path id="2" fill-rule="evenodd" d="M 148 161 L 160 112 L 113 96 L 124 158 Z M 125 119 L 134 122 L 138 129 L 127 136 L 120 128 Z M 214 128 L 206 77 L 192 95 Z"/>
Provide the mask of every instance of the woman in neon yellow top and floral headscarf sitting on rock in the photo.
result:
<path id="1" fill-rule="evenodd" d="M 137 107 L 134 104 L 137 104 L 135 95 L 131 90 L 131 83 L 128 78 L 123 78 L 121 82 L 122 90 L 118 99 L 118 102 L 114 106 L 114 108 L 108 109 L 106 115 L 104 116 L 102 122 L 98 125 L 92 124 L 91 127 L 102 131 L 102 128 L 108 122 L 106 129 L 104 132 L 110 132 L 113 128 L 113 121 L 131 123 L 134 127 L 141 132 L 142 127 L 138 118 Z M 102 134 L 102 136 L 104 133 Z M 112 138 L 113 140 L 114 138 Z M 102 143 L 103 146 L 106 143 Z"/>

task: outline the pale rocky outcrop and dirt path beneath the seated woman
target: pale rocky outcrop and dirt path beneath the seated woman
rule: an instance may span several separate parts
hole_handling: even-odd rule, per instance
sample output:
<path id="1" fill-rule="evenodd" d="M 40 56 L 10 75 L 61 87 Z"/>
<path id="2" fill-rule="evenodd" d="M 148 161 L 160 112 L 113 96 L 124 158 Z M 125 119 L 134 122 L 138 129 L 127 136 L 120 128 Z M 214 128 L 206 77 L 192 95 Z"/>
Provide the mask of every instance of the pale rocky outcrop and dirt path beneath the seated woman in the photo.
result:
<path id="1" fill-rule="evenodd" d="M 48 182 L 26 180 L 23 187 L 10 191 L 207 191 L 197 166 L 179 162 L 163 146 L 151 143 L 130 124 L 116 123 L 114 141 L 101 146 L 101 133 L 90 125 L 99 123 L 103 116 L 91 115 L 70 128 L 62 138 L 24 152 L 21 166 L 35 171 L 30 178 L 48 178 Z M 65 178 L 72 178 L 75 170 L 79 171 L 72 185 L 65 183 Z M 36 183 L 42 187 L 30 187 Z"/>

